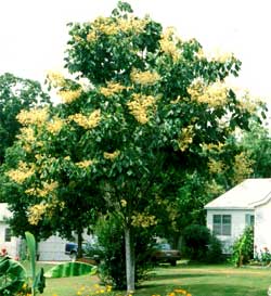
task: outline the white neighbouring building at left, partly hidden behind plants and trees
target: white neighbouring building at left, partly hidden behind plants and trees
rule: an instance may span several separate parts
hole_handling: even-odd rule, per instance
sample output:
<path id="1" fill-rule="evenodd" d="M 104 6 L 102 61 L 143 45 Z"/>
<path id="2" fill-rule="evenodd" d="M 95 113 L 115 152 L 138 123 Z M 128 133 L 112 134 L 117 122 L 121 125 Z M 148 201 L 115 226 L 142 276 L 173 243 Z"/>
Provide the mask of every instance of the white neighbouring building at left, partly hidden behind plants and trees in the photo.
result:
<path id="1" fill-rule="evenodd" d="M 12 216 L 8 209 L 7 203 L 0 203 L 0 252 L 4 248 L 8 254 L 15 258 L 20 257 L 23 248 L 25 248 L 24 240 L 12 236 L 11 229 L 7 219 Z M 91 235 L 83 234 L 86 241 L 92 241 Z M 67 240 L 63 240 L 57 235 L 52 235 L 46 241 L 38 243 L 38 255 L 40 261 L 65 261 L 69 260 L 69 256 L 65 255 L 65 244 Z"/>

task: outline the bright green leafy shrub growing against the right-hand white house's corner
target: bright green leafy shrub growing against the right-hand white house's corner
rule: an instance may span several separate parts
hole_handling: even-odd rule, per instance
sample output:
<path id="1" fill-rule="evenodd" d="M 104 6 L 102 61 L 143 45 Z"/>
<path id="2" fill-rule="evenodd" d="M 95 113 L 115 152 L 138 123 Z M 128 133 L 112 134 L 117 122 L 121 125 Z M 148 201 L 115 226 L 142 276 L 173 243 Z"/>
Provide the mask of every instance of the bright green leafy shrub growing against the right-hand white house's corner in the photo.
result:
<path id="1" fill-rule="evenodd" d="M 248 263 L 254 258 L 254 229 L 247 227 L 234 242 L 231 261 L 236 266 Z"/>

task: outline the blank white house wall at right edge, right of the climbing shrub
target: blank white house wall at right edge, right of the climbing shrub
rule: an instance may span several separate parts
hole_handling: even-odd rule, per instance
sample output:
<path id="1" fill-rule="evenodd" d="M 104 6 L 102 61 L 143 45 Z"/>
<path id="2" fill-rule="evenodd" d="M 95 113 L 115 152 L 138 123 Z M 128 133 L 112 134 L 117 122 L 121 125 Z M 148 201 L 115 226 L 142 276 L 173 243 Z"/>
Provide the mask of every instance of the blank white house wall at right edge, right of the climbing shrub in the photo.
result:
<path id="1" fill-rule="evenodd" d="M 259 205 L 255 208 L 255 234 L 254 243 L 257 250 L 266 247 L 271 250 L 271 202 Z"/>

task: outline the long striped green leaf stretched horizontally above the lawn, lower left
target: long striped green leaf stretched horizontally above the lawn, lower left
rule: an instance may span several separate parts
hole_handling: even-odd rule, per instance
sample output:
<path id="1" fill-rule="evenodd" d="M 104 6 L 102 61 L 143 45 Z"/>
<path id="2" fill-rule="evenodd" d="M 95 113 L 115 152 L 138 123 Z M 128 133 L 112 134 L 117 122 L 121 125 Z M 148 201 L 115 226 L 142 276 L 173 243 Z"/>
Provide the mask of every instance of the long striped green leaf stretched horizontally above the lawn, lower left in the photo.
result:
<path id="1" fill-rule="evenodd" d="M 95 274 L 96 267 L 83 262 L 66 262 L 57 265 L 44 274 L 46 278 L 67 278 L 85 274 Z"/>

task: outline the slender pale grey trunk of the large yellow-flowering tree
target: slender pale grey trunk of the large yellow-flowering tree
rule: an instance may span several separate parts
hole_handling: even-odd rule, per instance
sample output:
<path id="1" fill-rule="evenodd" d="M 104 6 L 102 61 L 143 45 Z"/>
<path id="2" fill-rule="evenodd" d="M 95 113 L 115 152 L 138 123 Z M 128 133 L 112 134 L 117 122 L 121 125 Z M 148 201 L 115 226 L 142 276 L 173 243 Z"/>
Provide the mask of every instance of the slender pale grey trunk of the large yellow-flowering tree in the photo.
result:
<path id="1" fill-rule="evenodd" d="M 127 295 L 134 292 L 134 248 L 132 244 L 131 228 L 125 229 L 125 253 L 126 253 L 126 282 Z"/>

